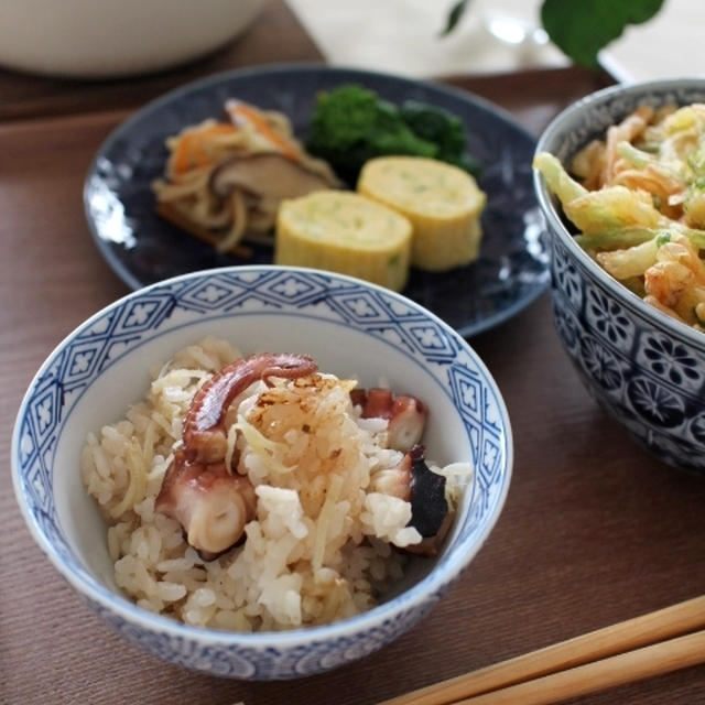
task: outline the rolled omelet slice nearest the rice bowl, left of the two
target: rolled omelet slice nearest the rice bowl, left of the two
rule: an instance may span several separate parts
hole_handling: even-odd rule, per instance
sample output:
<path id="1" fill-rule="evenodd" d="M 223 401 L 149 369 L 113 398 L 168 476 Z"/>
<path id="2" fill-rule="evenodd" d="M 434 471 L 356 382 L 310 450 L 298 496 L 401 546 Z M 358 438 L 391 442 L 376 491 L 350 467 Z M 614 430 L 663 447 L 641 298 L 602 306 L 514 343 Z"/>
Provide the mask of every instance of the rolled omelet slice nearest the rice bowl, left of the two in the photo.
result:
<path id="1" fill-rule="evenodd" d="M 279 207 L 274 263 L 325 269 L 401 291 L 411 230 L 406 218 L 376 200 L 318 191 Z"/>

